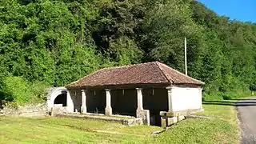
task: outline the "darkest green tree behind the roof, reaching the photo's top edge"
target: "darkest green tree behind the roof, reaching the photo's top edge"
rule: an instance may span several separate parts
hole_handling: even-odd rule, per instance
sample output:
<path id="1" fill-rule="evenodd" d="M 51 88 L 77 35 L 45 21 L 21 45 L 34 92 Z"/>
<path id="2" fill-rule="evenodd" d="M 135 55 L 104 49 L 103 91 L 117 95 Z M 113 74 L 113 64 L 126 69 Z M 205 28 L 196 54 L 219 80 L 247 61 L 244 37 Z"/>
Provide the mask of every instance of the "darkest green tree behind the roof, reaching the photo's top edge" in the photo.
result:
<path id="1" fill-rule="evenodd" d="M 142 50 L 134 42 L 135 30 L 142 20 L 141 1 L 98 2 L 99 17 L 93 38 L 98 50 L 119 65 L 140 62 Z"/>

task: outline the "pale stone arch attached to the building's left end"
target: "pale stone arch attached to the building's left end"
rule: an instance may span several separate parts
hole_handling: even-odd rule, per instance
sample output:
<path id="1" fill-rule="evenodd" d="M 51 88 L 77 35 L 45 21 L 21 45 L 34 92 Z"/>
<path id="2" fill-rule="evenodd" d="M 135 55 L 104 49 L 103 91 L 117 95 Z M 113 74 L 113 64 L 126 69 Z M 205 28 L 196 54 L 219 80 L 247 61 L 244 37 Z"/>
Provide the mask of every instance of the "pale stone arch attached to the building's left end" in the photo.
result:
<path id="1" fill-rule="evenodd" d="M 54 102 L 58 103 L 56 102 L 56 98 L 59 98 L 60 96 L 63 97 L 64 95 L 66 95 L 66 105 L 64 106 L 66 107 L 67 112 L 74 112 L 74 103 L 70 97 L 70 92 L 66 89 L 66 87 L 54 87 L 49 90 L 47 94 L 48 111 L 52 109 L 52 107 L 54 106 Z"/>

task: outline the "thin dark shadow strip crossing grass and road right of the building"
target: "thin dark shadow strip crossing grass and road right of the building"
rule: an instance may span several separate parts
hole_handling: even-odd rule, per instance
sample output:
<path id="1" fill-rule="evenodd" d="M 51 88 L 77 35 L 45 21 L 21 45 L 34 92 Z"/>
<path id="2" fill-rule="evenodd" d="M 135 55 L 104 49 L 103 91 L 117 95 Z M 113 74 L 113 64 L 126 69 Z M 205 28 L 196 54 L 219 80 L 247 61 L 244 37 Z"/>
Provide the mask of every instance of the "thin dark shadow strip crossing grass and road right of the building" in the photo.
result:
<path id="1" fill-rule="evenodd" d="M 256 106 L 256 99 L 232 99 L 232 100 L 239 100 L 238 102 L 231 102 L 231 101 L 204 101 L 202 102 L 205 105 L 223 105 L 223 106 Z"/>

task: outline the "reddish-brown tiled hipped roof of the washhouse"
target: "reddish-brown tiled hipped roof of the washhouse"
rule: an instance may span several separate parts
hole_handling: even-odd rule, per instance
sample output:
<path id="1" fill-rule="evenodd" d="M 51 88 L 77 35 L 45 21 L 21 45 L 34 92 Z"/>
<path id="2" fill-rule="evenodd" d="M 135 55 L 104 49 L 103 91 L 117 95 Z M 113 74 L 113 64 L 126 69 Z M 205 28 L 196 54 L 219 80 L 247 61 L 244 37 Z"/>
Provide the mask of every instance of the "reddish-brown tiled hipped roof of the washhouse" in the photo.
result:
<path id="1" fill-rule="evenodd" d="M 77 82 L 72 82 L 70 87 L 163 83 L 204 84 L 204 82 L 182 74 L 161 62 L 148 62 L 98 70 L 84 78 L 80 78 Z"/>

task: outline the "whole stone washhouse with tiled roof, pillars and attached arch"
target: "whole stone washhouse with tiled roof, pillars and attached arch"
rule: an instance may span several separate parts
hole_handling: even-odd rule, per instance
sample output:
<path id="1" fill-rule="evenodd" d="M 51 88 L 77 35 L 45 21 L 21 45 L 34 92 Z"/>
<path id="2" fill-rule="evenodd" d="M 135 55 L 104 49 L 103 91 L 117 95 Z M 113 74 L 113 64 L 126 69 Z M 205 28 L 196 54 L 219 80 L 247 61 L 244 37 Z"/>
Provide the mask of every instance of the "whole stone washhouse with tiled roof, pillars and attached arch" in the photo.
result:
<path id="1" fill-rule="evenodd" d="M 170 125 L 202 111 L 204 82 L 161 62 L 98 70 L 52 90 L 48 110 L 62 104 L 68 113 L 129 115 L 147 125 Z"/>

